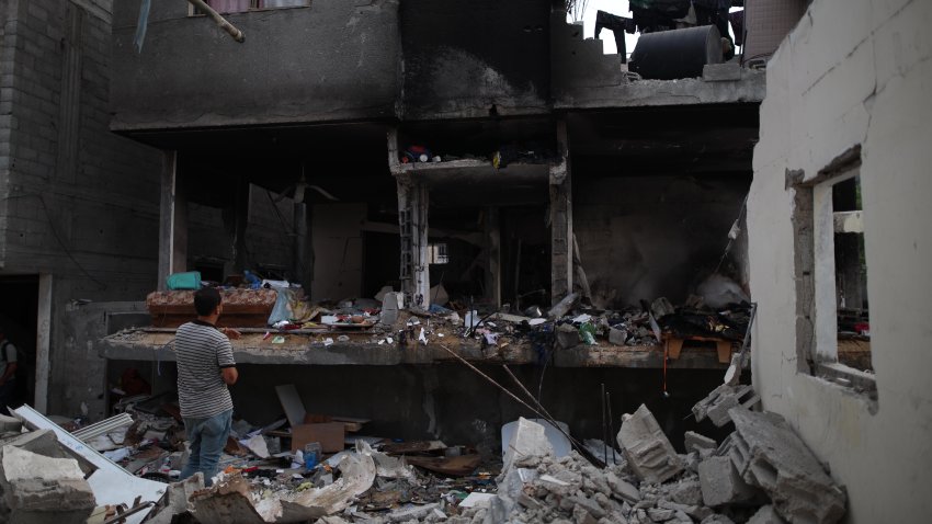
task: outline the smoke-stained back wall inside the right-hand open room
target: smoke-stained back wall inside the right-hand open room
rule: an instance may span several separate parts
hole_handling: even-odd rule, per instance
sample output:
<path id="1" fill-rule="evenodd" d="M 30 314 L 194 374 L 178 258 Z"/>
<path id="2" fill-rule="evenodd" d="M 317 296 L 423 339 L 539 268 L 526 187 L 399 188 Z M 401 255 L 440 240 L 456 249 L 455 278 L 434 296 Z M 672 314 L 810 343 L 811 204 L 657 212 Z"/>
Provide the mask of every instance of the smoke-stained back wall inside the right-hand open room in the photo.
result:
<path id="1" fill-rule="evenodd" d="M 747 184 L 737 176 L 576 176 L 573 231 L 594 303 L 666 296 L 680 304 L 695 293 L 721 259 Z M 736 278 L 741 247 L 731 251 Z"/>

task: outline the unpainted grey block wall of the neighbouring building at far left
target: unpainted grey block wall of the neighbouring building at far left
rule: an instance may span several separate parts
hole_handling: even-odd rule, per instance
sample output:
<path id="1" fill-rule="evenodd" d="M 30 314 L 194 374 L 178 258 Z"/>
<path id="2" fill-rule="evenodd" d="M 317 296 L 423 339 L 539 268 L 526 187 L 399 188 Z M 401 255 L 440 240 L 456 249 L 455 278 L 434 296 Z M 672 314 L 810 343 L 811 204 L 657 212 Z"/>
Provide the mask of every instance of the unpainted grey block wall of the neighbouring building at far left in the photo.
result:
<path id="1" fill-rule="evenodd" d="M 68 403 L 67 391 L 100 376 L 100 363 L 71 342 L 67 305 L 141 297 L 157 271 L 161 155 L 109 130 L 104 8 L 39 0 L 0 9 L 0 267 L 50 276 L 38 338 L 50 337 L 49 408 L 71 413 L 80 400 Z"/>

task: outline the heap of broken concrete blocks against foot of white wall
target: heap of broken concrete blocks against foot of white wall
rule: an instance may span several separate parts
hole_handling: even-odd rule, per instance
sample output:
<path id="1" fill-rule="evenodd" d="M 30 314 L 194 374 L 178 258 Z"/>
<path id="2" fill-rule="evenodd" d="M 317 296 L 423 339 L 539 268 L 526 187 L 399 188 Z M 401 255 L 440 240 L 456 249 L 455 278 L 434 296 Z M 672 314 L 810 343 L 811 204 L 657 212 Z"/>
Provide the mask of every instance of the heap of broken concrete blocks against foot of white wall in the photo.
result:
<path id="1" fill-rule="evenodd" d="M 687 453 L 678 455 L 641 406 L 618 433 L 626 462 L 604 469 L 576 452 L 555 459 L 527 429 L 532 444 L 515 447 L 497 497 L 446 522 L 828 524 L 843 516 L 844 490 L 782 417 L 729 411 L 736 430 L 720 446 L 691 433 Z"/>

